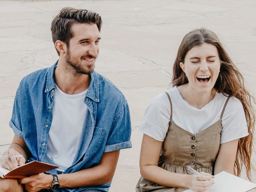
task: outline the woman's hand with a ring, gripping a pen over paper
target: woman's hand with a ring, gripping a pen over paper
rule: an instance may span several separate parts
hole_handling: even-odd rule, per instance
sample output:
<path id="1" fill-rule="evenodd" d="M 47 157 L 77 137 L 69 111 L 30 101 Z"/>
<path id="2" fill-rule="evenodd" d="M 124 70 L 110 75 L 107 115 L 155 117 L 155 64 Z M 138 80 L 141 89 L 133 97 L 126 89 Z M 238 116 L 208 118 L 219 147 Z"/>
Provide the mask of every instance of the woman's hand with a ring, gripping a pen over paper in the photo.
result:
<path id="1" fill-rule="evenodd" d="M 203 192 L 212 187 L 214 176 L 205 172 L 200 172 L 200 174 L 188 175 L 188 188 L 196 192 Z"/>

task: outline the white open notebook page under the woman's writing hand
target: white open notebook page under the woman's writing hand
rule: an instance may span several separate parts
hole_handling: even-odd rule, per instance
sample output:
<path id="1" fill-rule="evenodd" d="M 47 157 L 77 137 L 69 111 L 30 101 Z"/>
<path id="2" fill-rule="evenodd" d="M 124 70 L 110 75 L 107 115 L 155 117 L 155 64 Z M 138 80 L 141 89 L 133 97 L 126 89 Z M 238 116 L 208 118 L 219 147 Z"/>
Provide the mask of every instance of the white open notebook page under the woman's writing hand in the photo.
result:
<path id="1" fill-rule="evenodd" d="M 214 184 L 207 192 L 246 192 L 256 187 L 256 184 L 222 171 L 215 175 Z M 194 192 L 191 189 L 183 192 Z"/>

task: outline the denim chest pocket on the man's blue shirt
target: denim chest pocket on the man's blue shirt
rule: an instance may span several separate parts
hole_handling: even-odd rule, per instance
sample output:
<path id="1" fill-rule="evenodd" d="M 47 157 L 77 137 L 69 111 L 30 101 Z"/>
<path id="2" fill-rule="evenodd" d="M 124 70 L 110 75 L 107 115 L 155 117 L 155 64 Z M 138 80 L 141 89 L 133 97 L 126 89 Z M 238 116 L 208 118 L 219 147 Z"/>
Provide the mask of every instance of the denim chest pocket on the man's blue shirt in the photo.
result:
<path id="1" fill-rule="evenodd" d="M 91 140 L 89 147 L 87 149 L 87 152 L 86 152 L 87 155 L 92 155 L 92 154 L 96 153 L 97 150 L 99 150 L 101 148 L 101 145 L 103 145 L 103 143 L 101 141 L 104 137 L 105 131 L 106 131 L 105 129 L 102 129 L 99 127 L 94 128 L 93 134 L 92 134 L 92 140 Z"/>

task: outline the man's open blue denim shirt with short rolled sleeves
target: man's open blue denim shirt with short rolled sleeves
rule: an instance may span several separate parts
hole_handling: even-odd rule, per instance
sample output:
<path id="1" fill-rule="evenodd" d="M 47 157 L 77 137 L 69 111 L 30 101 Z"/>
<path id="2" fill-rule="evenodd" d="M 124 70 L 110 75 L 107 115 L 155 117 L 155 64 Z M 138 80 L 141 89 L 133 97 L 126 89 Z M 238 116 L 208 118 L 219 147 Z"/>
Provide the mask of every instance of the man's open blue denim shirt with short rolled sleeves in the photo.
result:
<path id="1" fill-rule="evenodd" d="M 25 140 L 31 152 L 29 161 L 54 164 L 45 152 L 52 124 L 56 88 L 53 75 L 57 63 L 25 76 L 16 92 L 9 125 L 15 135 Z M 103 153 L 132 147 L 127 100 L 113 83 L 93 71 L 84 103 L 90 112 L 85 116 L 73 164 L 63 173 L 91 168 L 99 164 Z M 57 170 L 49 173 L 57 174 Z M 110 184 L 58 191 L 108 191 Z"/>

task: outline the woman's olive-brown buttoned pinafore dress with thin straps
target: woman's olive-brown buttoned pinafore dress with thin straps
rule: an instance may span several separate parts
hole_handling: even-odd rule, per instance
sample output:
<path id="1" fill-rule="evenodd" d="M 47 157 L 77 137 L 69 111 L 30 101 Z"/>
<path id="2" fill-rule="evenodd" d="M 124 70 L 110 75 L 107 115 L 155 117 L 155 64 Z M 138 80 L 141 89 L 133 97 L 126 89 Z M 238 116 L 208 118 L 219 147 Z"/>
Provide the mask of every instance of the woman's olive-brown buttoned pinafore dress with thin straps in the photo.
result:
<path id="1" fill-rule="evenodd" d="M 171 118 L 166 133 L 158 166 L 174 173 L 193 174 L 187 166 L 198 172 L 213 174 L 215 159 L 220 148 L 221 118 L 228 103 L 227 98 L 222 109 L 220 119 L 203 131 L 193 134 L 172 121 L 172 101 L 165 92 L 171 104 Z M 187 188 L 172 188 L 158 185 L 140 177 L 137 183 L 137 192 L 181 192 Z"/>

